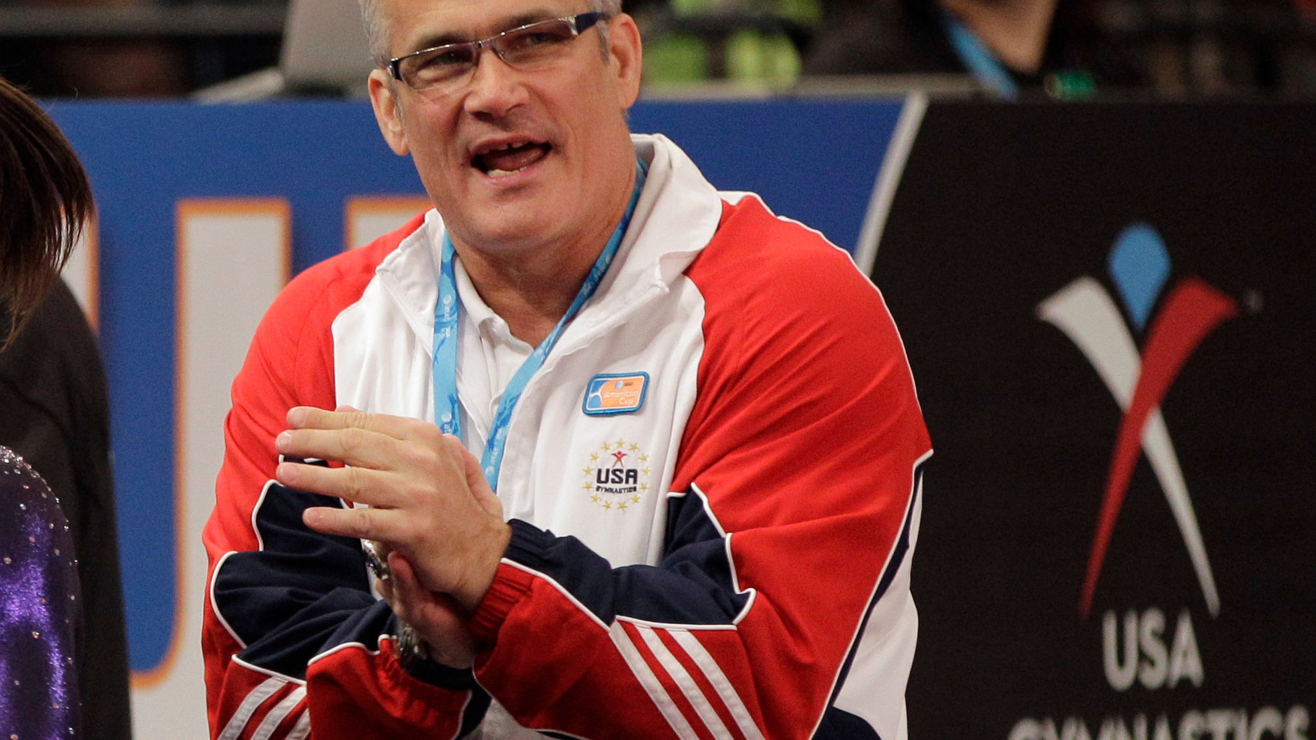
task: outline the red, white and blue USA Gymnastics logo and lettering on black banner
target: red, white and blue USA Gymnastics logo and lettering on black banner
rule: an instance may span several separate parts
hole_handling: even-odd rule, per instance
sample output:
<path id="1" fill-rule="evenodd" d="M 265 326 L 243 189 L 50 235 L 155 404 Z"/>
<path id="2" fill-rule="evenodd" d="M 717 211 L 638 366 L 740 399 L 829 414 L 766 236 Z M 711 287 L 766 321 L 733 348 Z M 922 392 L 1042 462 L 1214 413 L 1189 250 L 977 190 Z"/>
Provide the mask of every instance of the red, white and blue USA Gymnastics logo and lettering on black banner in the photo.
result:
<path id="1" fill-rule="evenodd" d="M 1174 515 L 1207 612 L 1216 619 L 1220 591 L 1161 404 L 1202 342 L 1240 313 L 1238 302 L 1199 278 L 1171 283 L 1170 253 L 1148 224 L 1132 224 L 1119 234 L 1107 269 L 1117 298 L 1098 279 L 1080 277 L 1037 307 L 1037 316 L 1061 329 L 1083 353 L 1123 412 L 1079 589 L 1078 616 L 1086 621 L 1091 615 L 1121 506 L 1145 454 Z M 1136 334 L 1142 337 L 1141 348 Z M 1128 557 L 1121 561 L 1138 562 Z M 1117 694 L 1134 685 L 1146 691 L 1195 691 L 1205 683 L 1199 633 L 1186 604 L 1128 608 L 1123 615 L 1105 611 L 1100 643 L 1101 669 Z M 1309 712 L 1303 704 L 1286 711 L 1274 706 L 1252 712 L 1237 707 L 1167 711 L 1180 702 L 1167 695 L 1155 702 L 1158 706 L 1130 715 L 1107 715 L 1096 726 L 1080 714 L 1024 718 L 1009 739 L 1307 737 Z"/>

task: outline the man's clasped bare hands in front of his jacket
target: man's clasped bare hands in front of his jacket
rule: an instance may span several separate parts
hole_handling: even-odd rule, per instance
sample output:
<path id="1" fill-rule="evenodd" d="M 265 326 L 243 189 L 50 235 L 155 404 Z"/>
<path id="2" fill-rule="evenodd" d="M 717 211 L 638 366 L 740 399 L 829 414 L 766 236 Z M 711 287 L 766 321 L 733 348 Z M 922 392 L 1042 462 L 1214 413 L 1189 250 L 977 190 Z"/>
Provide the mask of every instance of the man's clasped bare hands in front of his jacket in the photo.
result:
<path id="1" fill-rule="evenodd" d="M 345 467 L 280 463 L 290 489 L 370 508 L 308 508 L 307 527 L 375 540 L 392 577 L 379 590 L 415 627 L 434 660 L 467 668 L 475 644 L 463 627 L 494 582 L 511 540 L 503 506 L 461 441 L 417 419 L 296 407 L 275 440 L 287 457 L 334 460 Z"/>

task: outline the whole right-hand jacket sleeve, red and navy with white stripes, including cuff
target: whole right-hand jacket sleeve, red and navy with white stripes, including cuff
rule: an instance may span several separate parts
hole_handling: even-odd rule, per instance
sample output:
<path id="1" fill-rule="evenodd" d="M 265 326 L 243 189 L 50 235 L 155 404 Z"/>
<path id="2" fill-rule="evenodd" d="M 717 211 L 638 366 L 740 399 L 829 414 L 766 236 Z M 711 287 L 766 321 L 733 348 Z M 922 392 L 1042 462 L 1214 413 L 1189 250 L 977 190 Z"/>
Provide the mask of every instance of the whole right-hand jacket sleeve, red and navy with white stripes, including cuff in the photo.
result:
<path id="1" fill-rule="evenodd" d="M 884 628 L 869 615 L 930 453 L 900 338 L 844 251 L 755 199 L 687 277 L 704 353 L 663 560 L 612 569 L 513 521 L 476 675 L 522 724 L 580 737 L 875 737 L 830 710 Z"/>

